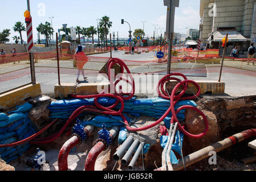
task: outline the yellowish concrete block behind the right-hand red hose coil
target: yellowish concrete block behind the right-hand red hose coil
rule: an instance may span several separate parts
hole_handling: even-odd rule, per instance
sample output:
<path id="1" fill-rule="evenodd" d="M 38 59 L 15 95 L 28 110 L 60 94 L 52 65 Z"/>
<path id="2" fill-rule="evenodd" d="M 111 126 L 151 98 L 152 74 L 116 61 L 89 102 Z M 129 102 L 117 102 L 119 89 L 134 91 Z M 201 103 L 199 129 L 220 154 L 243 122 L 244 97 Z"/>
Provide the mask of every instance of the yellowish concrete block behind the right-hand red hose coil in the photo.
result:
<path id="1" fill-rule="evenodd" d="M 224 94 L 225 93 L 225 82 L 218 82 L 218 81 L 200 81 L 196 80 L 197 84 L 200 86 L 201 92 L 200 94 L 204 94 L 205 92 L 212 92 L 212 94 Z M 174 86 L 177 85 L 177 81 L 170 81 L 166 85 L 166 88 L 169 91 L 172 91 Z M 197 88 L 194 84 L 189 83 L 189 88 L 196 94 L 197 93 Z M 187 89 L 185 93 L 192 94 L 190 89 Z M 180 86 L 177 91 L 181 91 L 182 86 Z"/>

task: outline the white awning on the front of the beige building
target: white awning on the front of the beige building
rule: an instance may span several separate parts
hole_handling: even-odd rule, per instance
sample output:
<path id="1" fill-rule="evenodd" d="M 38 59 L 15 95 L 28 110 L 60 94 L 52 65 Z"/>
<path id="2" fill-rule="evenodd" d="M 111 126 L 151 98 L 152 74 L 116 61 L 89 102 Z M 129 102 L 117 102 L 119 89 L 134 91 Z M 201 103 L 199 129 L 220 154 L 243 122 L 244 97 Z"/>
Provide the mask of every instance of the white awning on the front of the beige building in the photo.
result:
<path id="1" fill-rule="evenodd" d="M 225 38 L 226 34 L 229 34 L 227 36 L 227 39 L 229 39 L 229 42 L 239 42 L 239 41 L 247 41 L 242 34 L 240 34 L 237 31 L 217 31 L 213 34 L 213 41 L 214 42 L 221 42 L 223 38 Z M 211 40 L 211 37 L 208 38 L 208 41 Z"/>

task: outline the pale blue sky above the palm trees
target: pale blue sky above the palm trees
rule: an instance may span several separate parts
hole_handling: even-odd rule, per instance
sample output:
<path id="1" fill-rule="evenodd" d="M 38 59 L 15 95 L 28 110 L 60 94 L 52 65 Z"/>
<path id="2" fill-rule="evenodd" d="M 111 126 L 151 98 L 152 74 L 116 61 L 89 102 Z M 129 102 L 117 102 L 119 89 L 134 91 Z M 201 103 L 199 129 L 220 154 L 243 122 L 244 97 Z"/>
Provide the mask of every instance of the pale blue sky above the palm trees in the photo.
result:
<path id="1" fill-rule="evenodd" d="M 44 9 L 45 7 L 45 9 Z M 13 0 L 1 3 L 0 17 L 2 18 L 0 24 L 0 31 L 5 28 L 11 29 L 9 39 L 14 35 L 19 35 L 18 32 L 13 31 L 15 22 L 21 21 L 25 24 L 23 16 L 27 9 L 26 0 Z M 96 19 L 102 16 L 109 16 L 113 22 L 111 32 L 119 32 L 119 36 L 123 38 L 128 37 L 129 26 L 127 23 L 121 24 L 121 19 L 131 24 L 131 29 L 143 28 L 146 36 L 153 36 L 155 27 L 153 24 L 158 24 L 158 34 L 164 33 L 166 26 L 166 6 L 163 0 L 30 0 L 30 9 L 33 23 L 34 39 L 37 39 L 36 27 L 41 22 L 50 22 L 52 19 L 53 28 L 58 31 L 62 24 L 67 23 L 68 27 L 81 26 L 97 27 Z M 44 11 L 45 10 L 45 11 Z M 199 28 L 200 23 L 200 0 L 180 0 L 180 7 L 176 8 L 174 31 L 186 34 L 186 28 Z M 45 12 L 45 14 L 44 14 Z M 22 33 L 23 40 L 26 41 L 26 32 Z"/>

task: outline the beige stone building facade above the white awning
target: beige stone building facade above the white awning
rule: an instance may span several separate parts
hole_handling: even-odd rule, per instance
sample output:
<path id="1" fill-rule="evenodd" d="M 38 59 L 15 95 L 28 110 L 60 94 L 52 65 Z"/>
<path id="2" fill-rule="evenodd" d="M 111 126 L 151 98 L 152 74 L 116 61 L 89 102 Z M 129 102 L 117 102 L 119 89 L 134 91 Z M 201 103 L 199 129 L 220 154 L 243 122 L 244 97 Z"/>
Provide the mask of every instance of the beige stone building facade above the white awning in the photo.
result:
<path id="1" fill-rule="evenodd" d="M 201 39 L 208 39 L 209 33 L 212 32 L 212 17 L 209 16 L 209 3 L 216 3 L 216 17 L 214 19 L 214 32 L 218 27 L 236 27 L 246 38 L 251 38 L 252 28 L 256 28 L 256 24 L 251 26 L 253 22 L 254 3 L 255 0 L 201 0 L 201 22 L 202 30 L 200 32 Z"/>

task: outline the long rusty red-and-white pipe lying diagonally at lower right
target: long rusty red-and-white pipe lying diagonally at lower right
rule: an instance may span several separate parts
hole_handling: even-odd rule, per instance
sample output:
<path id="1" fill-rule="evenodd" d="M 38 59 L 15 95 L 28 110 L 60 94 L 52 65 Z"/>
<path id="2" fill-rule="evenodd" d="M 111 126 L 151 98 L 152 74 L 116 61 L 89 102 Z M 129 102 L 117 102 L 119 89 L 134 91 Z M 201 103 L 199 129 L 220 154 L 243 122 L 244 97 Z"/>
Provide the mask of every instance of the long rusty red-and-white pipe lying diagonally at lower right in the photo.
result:
<path id="1" fill-rule="evenodd" d="M 235 143 L 242 142 L 243 140 L 255 137 L 256 136 L 256 129 L 249 129 L 242 131 L 241 133 L 237 133 L 235 135 L 232 135 L 231 137 L 225 138 L 224 140 L 221 140 L 220 142 L 216 142 L 208 147 L 202 148 L 201 150 L 198 150 L 192 154 L 189 154 L 185 156 L 184 163 L 185 167 L 191 166 L 192 164 L 208 158 L 210 151 L 220 152 L 224 150 L 225 148 L 228 148 L 232 146 Z M 172 165 L 174 171 L 178 171 L 184 168 L 184 164 L 182 163 L 182 160 L 178 160 L 178 164 Z M 163 171 L 164 168 L 160 167 L 155 169 L 154 171 Z"/>

